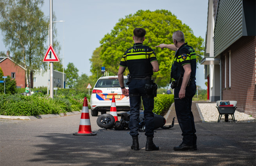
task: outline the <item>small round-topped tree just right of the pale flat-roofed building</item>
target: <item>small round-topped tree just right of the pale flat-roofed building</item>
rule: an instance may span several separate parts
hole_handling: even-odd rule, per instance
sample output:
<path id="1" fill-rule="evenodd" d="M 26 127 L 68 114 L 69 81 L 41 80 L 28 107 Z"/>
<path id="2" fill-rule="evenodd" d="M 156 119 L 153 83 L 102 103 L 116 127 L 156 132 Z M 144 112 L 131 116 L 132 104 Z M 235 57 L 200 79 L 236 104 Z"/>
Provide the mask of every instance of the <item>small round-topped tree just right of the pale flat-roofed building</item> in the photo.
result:
<path id="1" fill-rule="evenodd" d="M 66 73 L 66 85 L 69 88 L 73 88 L 75 82 L 78 78 L 78 69 L 75 67 L 73 63 L 68 63 L 67 69 L 65 70 Z"/>

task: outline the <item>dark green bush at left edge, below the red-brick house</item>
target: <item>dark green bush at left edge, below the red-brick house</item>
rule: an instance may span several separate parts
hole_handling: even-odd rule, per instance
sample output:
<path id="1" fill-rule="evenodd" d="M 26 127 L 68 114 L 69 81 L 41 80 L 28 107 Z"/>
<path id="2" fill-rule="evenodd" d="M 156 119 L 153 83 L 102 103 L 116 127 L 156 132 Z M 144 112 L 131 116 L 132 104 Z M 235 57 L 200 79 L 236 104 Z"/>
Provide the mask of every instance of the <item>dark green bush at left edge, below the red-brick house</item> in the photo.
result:
<path id="1" fill-rule="evenodd" d="M 4 72 L 0 67 L 0 80 L 4 81 Z M 0 83 L 0 92 L 4 93 L 4 83 Z M 15 94 L 16 93 L 16 81 L 15 79 L 11 79 L 10 76 L 5 78 L 5 94 Z"/>

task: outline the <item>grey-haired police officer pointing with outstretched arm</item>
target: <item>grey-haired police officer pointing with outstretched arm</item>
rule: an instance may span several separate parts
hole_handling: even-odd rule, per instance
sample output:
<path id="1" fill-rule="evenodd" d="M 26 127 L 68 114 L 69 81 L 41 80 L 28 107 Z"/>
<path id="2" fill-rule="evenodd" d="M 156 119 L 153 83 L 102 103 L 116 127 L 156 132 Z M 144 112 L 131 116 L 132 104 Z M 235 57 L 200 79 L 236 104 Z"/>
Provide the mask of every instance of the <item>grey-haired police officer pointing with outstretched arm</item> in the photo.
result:
<path id="1" fill-rule="evenodd" d="M 196 55 L 192 46 L 185 43 L 183 32 L 179 30 L 174 32 L 172 40 L 174 44 L 160 44 L 156 47 L 160 47 L 161 49 L 168 48 L 173 51 L 176 50 L 174 63 L 172 64 L 171 77 L 177 81 L 177 85 L 174 89 L 174 104 L 179 126 L 182 131 L 183 141 L 181 145 L 174 147 L 174 150 L 193 151 L 197 150 L 195 122 L 191 111 L 192 97 L 196 92 Z"/>

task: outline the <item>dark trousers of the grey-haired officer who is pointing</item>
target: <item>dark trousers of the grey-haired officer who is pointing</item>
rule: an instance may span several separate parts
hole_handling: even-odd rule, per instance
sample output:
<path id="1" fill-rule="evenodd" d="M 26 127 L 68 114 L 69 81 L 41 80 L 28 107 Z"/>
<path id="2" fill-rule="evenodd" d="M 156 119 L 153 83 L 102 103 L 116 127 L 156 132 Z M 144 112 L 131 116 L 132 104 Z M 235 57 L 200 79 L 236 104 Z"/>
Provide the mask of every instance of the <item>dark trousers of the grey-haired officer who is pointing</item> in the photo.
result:
<path id="1" fill-rule="evenodd" d="M 189 87 L 186 87 L 186 94 L 183 99 L 179 99 L 179 90 L 181 87 L 174 89 L 174 104 L 179 126 L 181 127 L 183 142 L 186 145 L 197 144 L 195 134 L 195 122 L 191 111 L 192 98 L 196 92 L 195 81 L 192 81 Z"/>

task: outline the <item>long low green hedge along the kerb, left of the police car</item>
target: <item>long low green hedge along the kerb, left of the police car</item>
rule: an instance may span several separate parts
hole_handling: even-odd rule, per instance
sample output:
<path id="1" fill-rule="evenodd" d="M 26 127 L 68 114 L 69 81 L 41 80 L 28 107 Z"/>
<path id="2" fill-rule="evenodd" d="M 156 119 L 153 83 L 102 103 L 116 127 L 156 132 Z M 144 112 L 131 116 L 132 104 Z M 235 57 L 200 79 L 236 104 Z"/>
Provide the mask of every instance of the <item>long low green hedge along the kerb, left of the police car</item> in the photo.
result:
<path id="1" fill-rule="evenodd" d="M 83 99 L 57 96 L 54 99 L 38 93 L 25 96 L 21 94 L 0 95 L 0 115 L 36 116 L 45 114 L 59 114 L 82 109 Z"/>

